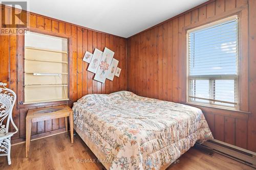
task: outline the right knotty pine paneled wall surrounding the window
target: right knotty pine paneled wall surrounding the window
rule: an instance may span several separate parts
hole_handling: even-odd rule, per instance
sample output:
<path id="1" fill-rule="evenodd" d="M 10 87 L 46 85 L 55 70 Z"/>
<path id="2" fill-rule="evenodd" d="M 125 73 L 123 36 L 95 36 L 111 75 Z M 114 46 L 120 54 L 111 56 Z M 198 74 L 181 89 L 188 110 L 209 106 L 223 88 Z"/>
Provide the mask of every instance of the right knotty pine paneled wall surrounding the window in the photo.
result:
<path id="1" fill-rule="evenodd" d="M 242 10 L 242 48 L 248 48 L 249 112 L 196 106 L 218 140 L 256 152 L 256 1 L 209 1 L 128 39 L 128 90 L 149 98 L 186 102 L 185 28 Z M 248 34 L 246 34 L 248 31 Z M 248 36 L 248 38 L 247 38 Z M 244 40 L 246 38 L 246 40 Z M 247 46 L 248 45 L 248 46 Z M 243 50 L 242 50 L 243 51 Z M 242 57 L 247 57 L 247 54 Z M 246 60 L 245 60 L 246 61 Z M 246 72 L 246 71 L 245 71 Z M 246 84 L 246 83 L 245 83 Z M 245 85 L 246 86 L 246 85 Z M 248 93 L 248 90 L 244 91 Z M 246 109 L 245 109 L 246 110 Z"/>

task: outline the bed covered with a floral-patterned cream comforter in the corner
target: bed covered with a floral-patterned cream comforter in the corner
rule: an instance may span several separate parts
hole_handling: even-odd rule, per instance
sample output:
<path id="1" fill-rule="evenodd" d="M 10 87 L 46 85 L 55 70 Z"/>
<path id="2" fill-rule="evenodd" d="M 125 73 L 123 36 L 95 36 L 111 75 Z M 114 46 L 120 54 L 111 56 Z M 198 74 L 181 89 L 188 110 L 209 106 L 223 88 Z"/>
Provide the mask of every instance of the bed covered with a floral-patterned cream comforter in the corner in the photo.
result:
<path id="1" fill-rule="evenodd" d="M 106 169 L 165 169 L 213 138 L 200 109 L 129 91 L 85 95 L 73 111 L 75 131 Z"/>

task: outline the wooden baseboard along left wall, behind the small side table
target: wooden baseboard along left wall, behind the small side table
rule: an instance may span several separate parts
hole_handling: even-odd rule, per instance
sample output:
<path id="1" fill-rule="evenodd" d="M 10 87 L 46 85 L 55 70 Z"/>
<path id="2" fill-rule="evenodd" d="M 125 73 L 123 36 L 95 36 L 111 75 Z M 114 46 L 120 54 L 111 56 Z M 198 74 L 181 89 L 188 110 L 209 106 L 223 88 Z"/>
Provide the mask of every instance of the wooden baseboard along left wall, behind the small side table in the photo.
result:
<path id="1" fill-rule="evenodd" d="M 49 137 L 49 136 L 53 136 L 53 135 L 57 135 L 57 134 L 64 133 L 64 132 L 66 132 L 66 129 L 61 128 L 61 129 L 57 129 L 57 130 L 53 130 L 53 131 L 49 131 L 49 132 L 45 132 L 45 133 L 35 134 L 35 135 L 31 136 L 31 141 Z M 12 145 L 21 144 L 21 143 L 25 143 L 25 142 L 26 142 L 26 138 L 18 138 L 18 139 L 11 140 Z"/>

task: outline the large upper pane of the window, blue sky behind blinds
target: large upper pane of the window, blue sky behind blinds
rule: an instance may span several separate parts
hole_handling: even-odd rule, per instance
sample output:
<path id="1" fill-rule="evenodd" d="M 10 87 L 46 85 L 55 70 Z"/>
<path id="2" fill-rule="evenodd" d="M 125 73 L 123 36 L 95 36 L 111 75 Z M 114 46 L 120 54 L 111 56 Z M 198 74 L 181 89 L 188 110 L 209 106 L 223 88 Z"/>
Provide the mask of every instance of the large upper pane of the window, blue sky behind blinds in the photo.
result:
<path id="1" fill-rule="evenodd" d="M 236 30 L 237 22 L 234 20 L 190 33 L 190 75 L 236 75 Z"/>

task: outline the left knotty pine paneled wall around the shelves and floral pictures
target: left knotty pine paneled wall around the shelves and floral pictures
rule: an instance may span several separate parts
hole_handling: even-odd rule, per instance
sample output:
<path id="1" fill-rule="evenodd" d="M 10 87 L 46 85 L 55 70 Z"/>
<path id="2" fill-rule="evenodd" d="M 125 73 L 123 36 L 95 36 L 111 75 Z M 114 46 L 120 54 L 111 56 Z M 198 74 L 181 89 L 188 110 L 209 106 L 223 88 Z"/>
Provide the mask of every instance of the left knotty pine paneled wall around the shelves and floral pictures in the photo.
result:
<path id="1" fill-rule="evenodd" d="M 1 6 L 2 11 L 3 8 Z M 11 13 L 11 9 L 5 8 Z M 23 14 L 26 15 L 26 12 L 23 12 Z M 69 38 L 70 106 L 86 94 L 111 93 L 127 89 L 125 38 L 93 31 L 37 14 L 31 13 L 28 17 L 31 31 Z M 122 70 L 119 78 L 115 77 L 114 81 L 106 80 L 105 84 L 102 84 L 93 80 L 94 74 L 87 71 L 88 63 L 82 62 L 82 58 L 86 51 L 93 53 L 95 48 L 103 51 L 105 46 L 115 52 L 114 58 L 119 60 L 118 67 Z M 13 118 L 19 131 L 12 137 L 12 142 L 23 141 L 26 134 L 25 118 L 28 109 L 63 105 L 65 102 L 20 104 L 23 101 L 24 36 L 1 35 L 0 58 L 0 81 L 7 83 L 7 87 L 17 94 Z M 63 132 L 63 128 L 65 128 L 63 118 L 34 123 L 32 138 Z"/>

